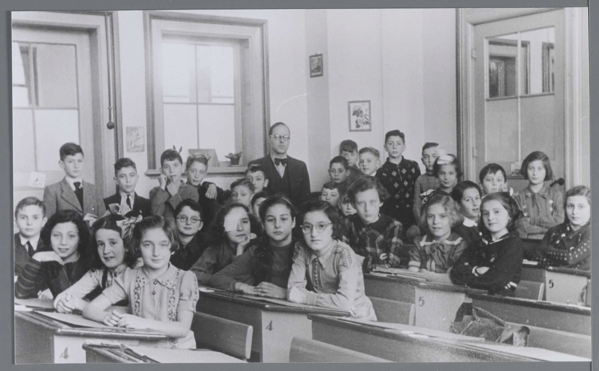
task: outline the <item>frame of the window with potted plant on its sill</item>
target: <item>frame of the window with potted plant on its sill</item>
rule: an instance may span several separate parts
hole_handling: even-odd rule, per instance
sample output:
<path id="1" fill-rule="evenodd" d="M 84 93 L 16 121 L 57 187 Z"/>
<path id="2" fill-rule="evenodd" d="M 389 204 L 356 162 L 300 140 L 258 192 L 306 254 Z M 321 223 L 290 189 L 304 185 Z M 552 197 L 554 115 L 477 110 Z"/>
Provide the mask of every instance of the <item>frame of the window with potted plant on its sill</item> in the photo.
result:
<path id="1" fill-rule="evenodd" d="M 266 153 L 268 132 L 269 107 L 268 107 L 268 48 L 267 48 L 267 21 L 259 19 L 241 19 L 235 17 L 205 16 L 202 14 L 178 13 L 173 11 L 144 11 L 144 39 L 146 42 L 146 101 L 147 101 L 147 159 L 148 170 L 146 175 L 152 177 L 160 174 L 158 166 L 163 144 L 162 138 L 164 122 L 156 114 L 156 105 L 163 104 L 159 77 L 161 71 L 158 63 L 159 50 L 155 50 L 157 42 L 161 42 L 162 35 L 189 35 L 194 38 L 223 38 L 223 41 L 234 39 L 247 48 L 241 47 L 247 63 L 241 63 L 241 81 L 243 96 L 240 99 L 241 110 L 241 151 L 243 163 L 262 157 Z M 236 93 L 237 95 L 237 93 Z M 249 104 L 248 104 L 249 103 Z M 236 104 L 236 110 L 238 105 Z M 162 110 L 161 110 L 162 111 Z M 237 131 L 237 133 L 239 133 Z M 224 159 L 225 154 L 219 154 Z M 186 153 L 181 153 L 183 160 Z M 227 174 L 243 172 L 240 166 L 220 166 L 208 168 L 207 174 Z"/>

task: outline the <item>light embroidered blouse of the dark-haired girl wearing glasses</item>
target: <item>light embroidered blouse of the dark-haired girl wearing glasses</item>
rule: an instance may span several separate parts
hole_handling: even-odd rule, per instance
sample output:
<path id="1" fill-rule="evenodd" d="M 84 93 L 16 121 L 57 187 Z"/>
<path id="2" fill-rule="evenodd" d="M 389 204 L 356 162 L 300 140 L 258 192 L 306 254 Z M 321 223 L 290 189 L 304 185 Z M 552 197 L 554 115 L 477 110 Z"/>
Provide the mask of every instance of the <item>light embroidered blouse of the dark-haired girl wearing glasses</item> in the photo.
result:
<path id="1" fill-rule="evenodd" d="M 355 318 L 376 321 L 373 305 L 364 293 L 360 261 L 352 248 L 337 240 L 333 240 L 321 256 L 316 256 L 305 242 L 297 242 L 288 293 L 302 291 L 307 295 L 305 304 L 338 309 L 350 312 Z"/>

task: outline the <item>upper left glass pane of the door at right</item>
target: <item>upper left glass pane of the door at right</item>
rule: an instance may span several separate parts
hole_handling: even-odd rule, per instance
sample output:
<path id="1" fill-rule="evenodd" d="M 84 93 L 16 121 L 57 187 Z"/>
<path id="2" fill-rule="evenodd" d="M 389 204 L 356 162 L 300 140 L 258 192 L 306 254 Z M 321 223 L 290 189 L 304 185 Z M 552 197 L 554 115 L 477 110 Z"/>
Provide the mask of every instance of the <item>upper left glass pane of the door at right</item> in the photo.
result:
<path id="1" fill-rule="evenodd" d="M 504 35 L 488 39 L 488 98 L 515 96 L 518 76 L 518 34 Z"/>

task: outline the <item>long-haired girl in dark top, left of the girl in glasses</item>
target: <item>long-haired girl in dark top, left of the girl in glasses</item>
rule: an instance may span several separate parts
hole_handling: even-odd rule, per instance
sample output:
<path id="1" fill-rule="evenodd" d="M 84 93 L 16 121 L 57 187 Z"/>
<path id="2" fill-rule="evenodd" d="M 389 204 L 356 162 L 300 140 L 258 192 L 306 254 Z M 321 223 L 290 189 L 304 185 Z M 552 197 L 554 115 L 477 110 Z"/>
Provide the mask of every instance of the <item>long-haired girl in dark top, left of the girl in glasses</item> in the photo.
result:
<path id="1" fill-rule="evenodd" d="M 222 290 L 286 299 L 293 263 L 295 209 L 284 196 L 268 197 L 259 209 L 264 237 L 246 253 L 211 276 L 208 285 Z"/>

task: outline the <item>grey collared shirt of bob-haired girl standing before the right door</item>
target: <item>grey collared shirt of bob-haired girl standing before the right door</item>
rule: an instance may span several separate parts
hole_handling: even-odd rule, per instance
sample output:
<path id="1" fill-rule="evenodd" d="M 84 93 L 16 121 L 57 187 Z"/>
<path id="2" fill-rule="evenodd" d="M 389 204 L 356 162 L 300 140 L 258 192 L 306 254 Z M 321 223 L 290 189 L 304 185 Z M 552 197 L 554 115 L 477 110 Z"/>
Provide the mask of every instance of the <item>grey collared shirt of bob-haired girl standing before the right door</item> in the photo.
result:
<path id="1" fill-rule="evenodd" d="M 564 221 L 564 194 L 557 187 L 544 183 L 537 193 L 530 187 L 514 195 L 514 200 L 522 211 L 516 230 L 521 238 L 543 238 L 551 227 Z"/>

